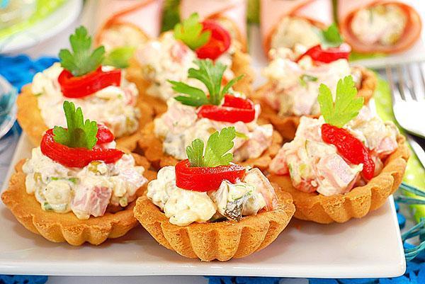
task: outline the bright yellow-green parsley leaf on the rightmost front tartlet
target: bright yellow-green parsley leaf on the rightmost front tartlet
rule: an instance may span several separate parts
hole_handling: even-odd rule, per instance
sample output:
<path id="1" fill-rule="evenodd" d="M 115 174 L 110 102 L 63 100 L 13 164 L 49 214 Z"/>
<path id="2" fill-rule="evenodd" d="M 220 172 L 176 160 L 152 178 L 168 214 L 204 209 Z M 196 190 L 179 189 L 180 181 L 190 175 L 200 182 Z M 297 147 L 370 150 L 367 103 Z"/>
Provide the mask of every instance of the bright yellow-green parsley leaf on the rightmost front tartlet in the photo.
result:
<path id="1" fill-rule="evenodd" d="M 343 127 L 353 118 L 356 118 L 359 110 L 363 107 L 363 98 L 357 97 L 356 84 L 352 76 L 346 76 L 339 79 L 336 85 L 335 103 L 332 98 L 331 90 L 324 84 L 319 87 L 320 111 L 324 120 L 336 127 Z"/>

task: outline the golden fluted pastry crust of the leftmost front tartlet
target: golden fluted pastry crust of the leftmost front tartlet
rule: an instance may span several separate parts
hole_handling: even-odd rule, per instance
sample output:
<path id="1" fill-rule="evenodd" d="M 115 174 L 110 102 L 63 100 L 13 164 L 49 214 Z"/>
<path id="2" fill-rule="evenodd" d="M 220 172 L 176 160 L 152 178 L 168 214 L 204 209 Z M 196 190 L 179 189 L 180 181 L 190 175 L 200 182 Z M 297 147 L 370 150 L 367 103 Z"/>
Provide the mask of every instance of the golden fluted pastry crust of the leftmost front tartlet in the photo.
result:
<path id="1" fill-rule="evenodd" d="M 135 156 L 135 160 L 137 164 L 141 163 L 147 166 L 145 169 L 149 169 L 149 162 L 144 157 Z M 16 172 L 11 176 L 6 191 L 1 194 L 1 200 L 16 220 L 31 232 L 42 235 L 50 242 L 67 242 L 73 246 L 80 246 L 84 242 L 98 245 L 106 239 L 123 236 L 137 225 L 132 213 L 136 201 L 124 210 L 106 212 L 101 217 L 90 217 L 89 220 L 79 220 L 73 212 L 60 214 L 42 210 L 34 195 L 26 193 L 26 174 L 22 171 L 24 162 L 21 160 L 16 164 Z M 144 176 L 150 181 L 156 173 L 145 171 Z M 142 195 L 145 190 L 146 185 L 139 188 L 137 195 Z"/>

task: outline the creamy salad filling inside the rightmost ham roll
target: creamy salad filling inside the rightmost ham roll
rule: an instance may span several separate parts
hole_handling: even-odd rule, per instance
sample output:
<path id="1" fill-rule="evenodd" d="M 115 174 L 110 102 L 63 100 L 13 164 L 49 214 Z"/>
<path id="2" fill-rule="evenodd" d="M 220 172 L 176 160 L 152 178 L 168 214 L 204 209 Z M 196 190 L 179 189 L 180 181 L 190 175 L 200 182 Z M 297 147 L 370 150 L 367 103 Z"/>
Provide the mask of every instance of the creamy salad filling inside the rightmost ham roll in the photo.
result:
<path id="1" fill-rule="evenodd" d="M 365 45 L 395 45 L 407 28 L 407 15 L 397 4 L 378 4 L 354 14 L 351 30 Z"/>

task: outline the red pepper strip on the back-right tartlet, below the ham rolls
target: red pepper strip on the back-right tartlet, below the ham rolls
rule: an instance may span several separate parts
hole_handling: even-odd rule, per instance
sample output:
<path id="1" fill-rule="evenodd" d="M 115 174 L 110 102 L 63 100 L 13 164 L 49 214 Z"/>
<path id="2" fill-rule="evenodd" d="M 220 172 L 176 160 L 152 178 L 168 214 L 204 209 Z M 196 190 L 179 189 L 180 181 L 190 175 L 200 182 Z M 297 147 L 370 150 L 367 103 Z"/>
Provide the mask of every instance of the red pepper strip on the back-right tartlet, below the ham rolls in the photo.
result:
<path id="1" fill-rule="evenodd" d="M 303 55 L 298 57 L 297 62 L 300 61 L 302 57 L 308 55 L 312 57 L 313 61 L 330 63 L 338 59 L 347 59 L 350 56 L 351 47 L 350 45 L 343 43 L 339 47 L 329 47 L 324 50 L 320 45 L 315 45 L 311 47 L 310 50 L 307 50 Z"/>

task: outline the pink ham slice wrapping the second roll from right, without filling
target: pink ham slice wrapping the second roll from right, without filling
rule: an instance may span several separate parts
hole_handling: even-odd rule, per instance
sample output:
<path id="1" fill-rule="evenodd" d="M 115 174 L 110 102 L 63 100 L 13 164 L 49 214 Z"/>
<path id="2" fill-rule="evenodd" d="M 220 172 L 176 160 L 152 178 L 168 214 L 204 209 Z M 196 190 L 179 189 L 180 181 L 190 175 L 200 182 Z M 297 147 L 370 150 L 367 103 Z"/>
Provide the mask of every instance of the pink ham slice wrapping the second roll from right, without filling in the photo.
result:
<path id="1" fill-rule="evenodd" d="M 271 48 L 271 38 L 285 16 L 305 18 L 321 29 L 334 20 L 331 0 L 261 0 L 260 5 L 261 38 L 266 54 Z"/>

